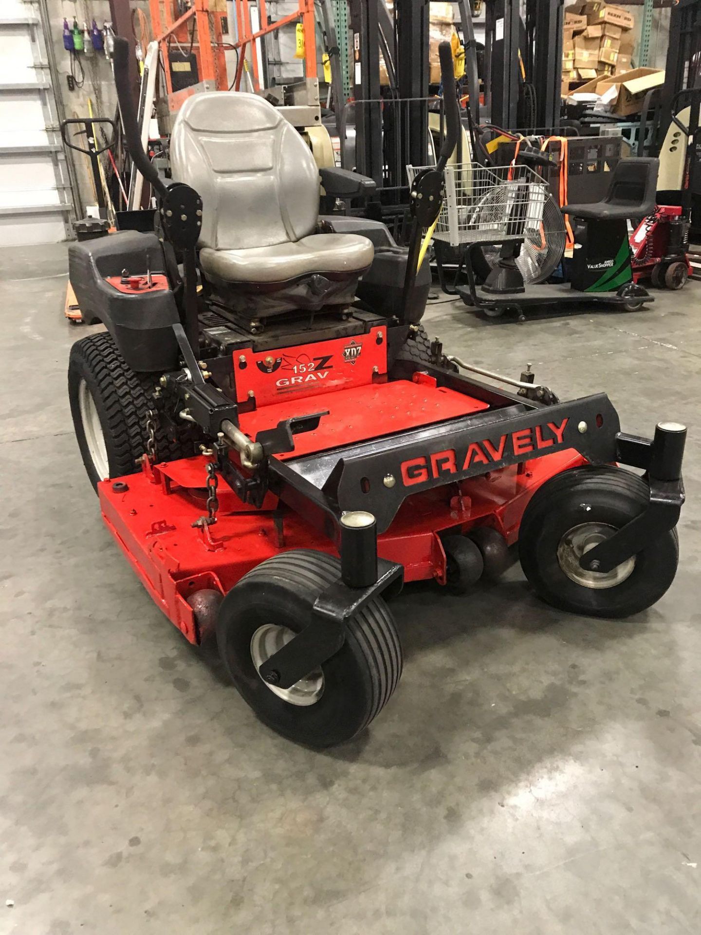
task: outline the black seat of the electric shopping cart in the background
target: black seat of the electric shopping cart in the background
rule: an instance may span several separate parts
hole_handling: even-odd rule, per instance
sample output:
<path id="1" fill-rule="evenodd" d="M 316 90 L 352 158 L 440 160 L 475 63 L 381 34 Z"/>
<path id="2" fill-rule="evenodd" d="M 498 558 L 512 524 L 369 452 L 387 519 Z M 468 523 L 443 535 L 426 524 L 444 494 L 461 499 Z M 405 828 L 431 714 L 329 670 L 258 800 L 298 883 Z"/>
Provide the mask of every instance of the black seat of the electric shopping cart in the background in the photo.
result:
<path id="1" fill-rule="evenodd" d="M 613 170 L 603 201 L 591 205 L 563 205 L 563 214 L 584 221 L 629 221 L 655 209 L 659 159 L 622 159 Z"/>

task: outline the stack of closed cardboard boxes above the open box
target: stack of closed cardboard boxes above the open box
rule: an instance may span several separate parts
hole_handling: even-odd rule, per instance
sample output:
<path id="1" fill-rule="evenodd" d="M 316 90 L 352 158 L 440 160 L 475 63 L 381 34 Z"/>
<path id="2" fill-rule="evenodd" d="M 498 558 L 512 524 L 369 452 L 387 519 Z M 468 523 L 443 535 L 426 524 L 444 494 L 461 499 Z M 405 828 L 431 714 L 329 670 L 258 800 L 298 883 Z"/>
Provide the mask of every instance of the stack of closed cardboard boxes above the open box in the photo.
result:
<path id="1" fill-rule="evenodd" d="M 578 82 L 628 71 L 633 24 L 627 10 L 602 0 L 581 0 L 565 7 L 563 94 Z"/>

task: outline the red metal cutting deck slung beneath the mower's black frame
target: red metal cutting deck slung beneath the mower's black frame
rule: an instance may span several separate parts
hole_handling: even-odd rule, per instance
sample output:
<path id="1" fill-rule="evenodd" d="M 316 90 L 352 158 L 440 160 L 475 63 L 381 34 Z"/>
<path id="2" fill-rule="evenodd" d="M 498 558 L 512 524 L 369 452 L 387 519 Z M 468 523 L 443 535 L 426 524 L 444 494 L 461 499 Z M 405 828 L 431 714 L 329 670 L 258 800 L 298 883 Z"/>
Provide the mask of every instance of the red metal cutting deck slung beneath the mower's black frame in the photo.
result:
<path id="1" fill-rule="evenodd" d="M 226 594 L 266 558 L 290 549 L 336 554 L 330 539 L 268 495 L 261 510 L 222 484 L 217 523 L 193 526 L 204 511 L 205 456 L 174 461 L 99 484 L 103 518 L 150 597 L 191 642 L 200 634 L 187 598 L 203 589 Z M 378 554 L 404 566 L 405 581 L 445 583 L 439 534 L 491 525 L 513 544 L 522 513 L 537 488 L 585 460 L 566 450 L 467 481 L 409 496 Z"/>

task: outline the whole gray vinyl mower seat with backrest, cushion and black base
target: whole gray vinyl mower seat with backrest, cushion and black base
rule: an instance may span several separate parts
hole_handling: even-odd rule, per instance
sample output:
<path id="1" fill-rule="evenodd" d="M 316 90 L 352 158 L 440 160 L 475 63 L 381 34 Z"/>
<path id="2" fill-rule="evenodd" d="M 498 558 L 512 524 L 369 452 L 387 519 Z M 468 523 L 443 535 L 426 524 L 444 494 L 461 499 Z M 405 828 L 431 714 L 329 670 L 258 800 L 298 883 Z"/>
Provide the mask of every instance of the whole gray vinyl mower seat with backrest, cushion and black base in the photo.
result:
<path id="1" fill-rule="evenodd" d="M 372 263 L 370 240 L 319 234 L 319 169 L 264 98 L 193 94 L 170 143 L 174 181 L 202 196 L 200 266 L 236 311 L 348 305 Z"/>

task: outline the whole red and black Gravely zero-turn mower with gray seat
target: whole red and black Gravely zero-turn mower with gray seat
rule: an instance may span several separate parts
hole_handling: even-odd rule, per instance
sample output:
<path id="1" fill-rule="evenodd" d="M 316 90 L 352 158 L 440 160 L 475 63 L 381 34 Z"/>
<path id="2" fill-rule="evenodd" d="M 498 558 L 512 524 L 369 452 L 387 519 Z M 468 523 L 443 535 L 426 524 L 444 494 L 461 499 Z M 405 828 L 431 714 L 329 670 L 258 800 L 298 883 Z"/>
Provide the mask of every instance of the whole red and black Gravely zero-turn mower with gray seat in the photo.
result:
<path id="1" fill-rule="evenodd" d="M 166 188 L 139 147 L 126 55 L 117 39 L 125 135 L 158 231 L 70 248 L 80 308 L 107 326 L 71 352 L 76 434 L 150 596 L 191 642 L 216 632 L 265 724 L 312 746 L 349 740 L 401 675 L 387 598 L 402 581 L 463 593 L 516 542 L 554 607 L 620 617 L 662 597 L 683 426 L 626 435 L 604 394 L 559 402 L 530 373 L 497 377 L 515 384 L 504 392 L 419 324 L 422 228 L 459 129 L 450 45 L 446 138 L 412 185 L 408 250 L 381 223 L 320 219 L 311 153 L 252 94 L 188 99 Z M 372 184 L 321 174 L 331 195 Z"/>

